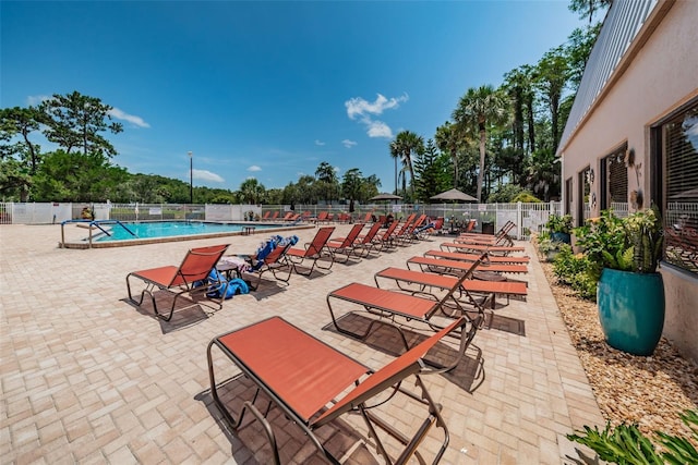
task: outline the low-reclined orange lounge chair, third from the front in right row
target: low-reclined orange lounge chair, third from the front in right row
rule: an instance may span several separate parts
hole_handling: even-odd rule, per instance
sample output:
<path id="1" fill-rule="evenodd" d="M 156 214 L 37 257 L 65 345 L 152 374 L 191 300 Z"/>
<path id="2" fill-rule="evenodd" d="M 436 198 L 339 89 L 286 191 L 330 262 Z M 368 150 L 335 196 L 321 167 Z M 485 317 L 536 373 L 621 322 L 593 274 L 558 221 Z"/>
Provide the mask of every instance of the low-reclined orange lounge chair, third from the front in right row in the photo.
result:
<path id="1" fill-rule="evenodd" d="M 373 276 L 376 286 L 380 285 L 378 278 L 393 280 L 397 286 L 407 292 L 425 292 L 426 287 L 436 287 L 441 290 L 448 290 L 453 287 L 458 278 L 449 274 L 435 274 L 424 271 L 409 270 L 404 268 L 386 268 L 378 271 Z M 416 284 L 418 290 L 413 290 L 409 284 Z M 528 295 L 528 289 L 526 283 L 517 281 L 481 281 L 481 280 L 466 280 L 461 283 L 461 292 L 466 294 L 468 298 L 472 298 L 470 293 L 484 294 L 485 296 L 492 295 L 506 295 L 506 302 L 509 303 L 509 296 L 526 298 Z M 491 298 L 492 308 L 495 306 L 495 299 Z"/>

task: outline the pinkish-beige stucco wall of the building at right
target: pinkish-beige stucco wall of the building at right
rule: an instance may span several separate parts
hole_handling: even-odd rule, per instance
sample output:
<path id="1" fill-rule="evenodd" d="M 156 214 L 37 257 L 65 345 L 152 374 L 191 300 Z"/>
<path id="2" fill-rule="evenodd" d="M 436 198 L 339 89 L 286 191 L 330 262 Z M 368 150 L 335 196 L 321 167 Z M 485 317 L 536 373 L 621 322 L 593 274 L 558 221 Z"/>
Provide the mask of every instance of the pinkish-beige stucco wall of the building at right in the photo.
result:
<path id="1" fill-rule="evenodd" d="M 578 173 L 589 166 L 593 169 L 591 192 L 600 199 L 601 160 L 625 143 L 635 150 L 635 167 L 628 168 L 628 195 L 640 191 L 645 206 L 652 200 L 650 127 L 698 96 L 697 24 L 698 1 L 658 2 L 636 37 L 636 41 L 646 40 L 643 46 L 629 60 L 624 58 L 628 61 L 623 74 L 612 77 L 587 119 L 561 147 L 563 182 L 573 180 L 569 213 L 577 224 L 583 201 Z M 597 201 L 591 216 L 599 216 L 601 207 Z M 661 272 L 666 290 L 664 335 L 698 362 L 698 277 L 669 267 Z"/>

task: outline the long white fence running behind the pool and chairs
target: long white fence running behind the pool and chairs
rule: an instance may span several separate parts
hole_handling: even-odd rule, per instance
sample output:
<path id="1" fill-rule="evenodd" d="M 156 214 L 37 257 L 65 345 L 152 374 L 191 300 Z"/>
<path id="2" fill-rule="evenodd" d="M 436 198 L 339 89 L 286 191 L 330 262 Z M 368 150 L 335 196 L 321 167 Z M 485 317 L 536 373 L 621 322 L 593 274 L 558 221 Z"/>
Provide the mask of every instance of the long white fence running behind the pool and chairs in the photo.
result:
<path id="1" fill-rule="evenodd" d="M 88 211 L 85 211 L 88 209 Z M 71 204 L 46 203 L 22 204 L 0 203 L 0 224 L 51 224 L 81 219 L 93 215 L 91 219 L 119 221 L 163 221 L 163 220 L 204 220 L 204 221 L 249 221 L 261 220 L 266 212 L 277 211 L 278 218 L 294 210 L 309 217 L 321 211 L 349 213 L 347 205 L 180 205 L 180 204 Z M 617 210 L 616 210 L 617 211 Z M 496 232 L 507 221 L 517 228 L 514 234 L 518 238 L 528 238 L 531 232 L 542 231 L 550 215 L 561 215 L 562 204 L 371 204 L 357 205 L 351 213 L 354 221 L 361 221 L 369 213 L 376 217 L 392 213 L 395 218 L 424 213 L 431 218 L 443 217 L 446 228 L 460 228 L 468 220 L 477 221 L 476 231 Z M 272 215 L 269 215 L 272 216 Z"/>

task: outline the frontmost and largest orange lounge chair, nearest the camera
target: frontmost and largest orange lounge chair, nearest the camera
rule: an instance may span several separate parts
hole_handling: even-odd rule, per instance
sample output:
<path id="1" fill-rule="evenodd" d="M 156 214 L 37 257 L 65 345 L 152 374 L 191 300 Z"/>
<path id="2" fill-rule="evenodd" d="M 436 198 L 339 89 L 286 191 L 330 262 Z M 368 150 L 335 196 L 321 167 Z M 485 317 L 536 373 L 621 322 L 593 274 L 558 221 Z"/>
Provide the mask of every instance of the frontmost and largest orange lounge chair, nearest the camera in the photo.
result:
<path id="1" fill-rule="evenodd" d="M 262 424 L 275 464 L 280 464 L 279 444 L 284 441 L 280 441 L 281 438 L 277 440 L 272 424 L 262 413 L 268 413 L 272 404 L 288 418 L 289 427 L 294 425 L 302 429 L 322 460 L 334 464 L 338 464 L 340 457 L 335 457 L 324 445 L 323 440 L 327 440 L 327 435 L 318 430 L 346 413 L 358 413 L 363 418 L 370 441 L 375 443 L 376 451 L 386 463 L 402 464 L 413 455 L 420 463 L 424 463 L 418 448 L 428 437 L 431 427 L 436 425 L 443 431 L 441 446 L 430 449 L 435 454 L 432 463 L 436 464 L 448 446 L 448 429 L 441 415 L 443 405 L 437 404 L 430 395 L 420 375 L 434 372 L 425 367 L 423 359 L 428 352 L 450 332 L 460 330 L 459 352 L 465 352 L 464 345 L 469 342 L 468 336 L 472 340 L 477 330 L 473 326 L 470 331 L 466 331 L 466 319 L 457 319 L 380 370 L 373 371 L 285 319 L 272 317 L 218 335 L 210 341 L 206 350 L 210 394 L 214 404 L 234 433 L 243 427 L 244 414 L 248 411 L 253 420 Z M 218 393 L 220 387 L 216 381 L 215 369 L 221 370 L 222 367 L 217 363 L 220 357 L 214 360 L 214 346 L 218 347 L 243 376 L 256 384 L 254 397 L 244 401 L 240 412 L 231 412 Z M 411 376 L 414 377 L 414 386 L 420 392 L 408 391 L 408 382 L 402 382 Z M 226 382 L 231 382 L 230 378 L 222 383 Z M 269 400 L 262 409 L 255 405 L 260 391 Z M 380 399 L 374 399 L 378 395 Z M 411 438 L 405 433 L 407 431 L 398 430 L 394 424 L 382 420 L 370 411 L 372 406 L 385 404 L 394 399 L 399 403 L 399 406 L 395 407 L 398 412 L 408 408 L 412 415 L 420 415 L 422 408 L 426 411 L 423 421 Z M 369 403 L 372 400 L 373 402 Z M 421 408 L 414 408 L 414 404 Z M 377 435 L 378 428 L 402 443 L 405 449 L 398 457 L 388 454 L 384 445 L 385 435 Z M 434 440 L 436 439 L 430 438 L 426 442 Z"/>

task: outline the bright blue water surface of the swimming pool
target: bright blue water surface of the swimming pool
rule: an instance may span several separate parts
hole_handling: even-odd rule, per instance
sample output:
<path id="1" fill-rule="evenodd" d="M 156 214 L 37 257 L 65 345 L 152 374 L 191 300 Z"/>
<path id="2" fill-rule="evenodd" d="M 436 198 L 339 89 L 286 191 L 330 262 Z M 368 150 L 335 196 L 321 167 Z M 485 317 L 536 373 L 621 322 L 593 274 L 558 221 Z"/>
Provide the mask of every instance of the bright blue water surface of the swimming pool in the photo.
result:
<path id="1" fill-rule="evenodd" d="M 103 232 L 95 234 L 95 242 L 129 241 L 134 238 L 171 237 L 177 235 L 215 234 L 226 232 L 240 232 L 250 223 L 204 223 L 201 221 L 156 221 L 156 222 L 122 222 L 120 224 L 103 224 L 101 227 L 111 235 Z M 124 228 L 125 227 L 125 228 Z M 129 231 L 133 234 L 131 234 Z M 254 224 L 255 232 L 264 229 L 279 228 L 278 224 Z"/>

